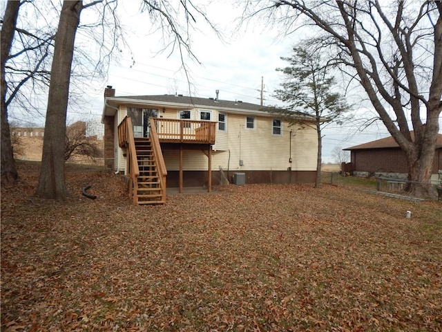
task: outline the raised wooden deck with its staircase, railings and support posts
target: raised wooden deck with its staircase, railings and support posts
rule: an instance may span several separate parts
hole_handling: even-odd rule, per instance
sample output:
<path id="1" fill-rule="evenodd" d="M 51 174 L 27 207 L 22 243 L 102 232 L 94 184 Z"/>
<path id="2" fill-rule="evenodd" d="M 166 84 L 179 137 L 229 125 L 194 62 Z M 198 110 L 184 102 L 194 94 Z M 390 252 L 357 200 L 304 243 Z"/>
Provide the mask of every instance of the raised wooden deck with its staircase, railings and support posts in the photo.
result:
<path id="1" fill-rule="evenodd" d="M 119 147 L 126 152 L 129 197 L 133 202 L 162 204 L 166 201 L 167 169 L 162 145 L 180 149 L 180 193 L 183 192 L 184 145 L 201 149 L 208 158 L 207 191 L 211 192 L 211 145 L 215 144 L 215 131 L 216 122 L 150 118 L 149 137 L 135 138 L 131 118 L 126 116 L 118 125 L 118 140 Z"/>

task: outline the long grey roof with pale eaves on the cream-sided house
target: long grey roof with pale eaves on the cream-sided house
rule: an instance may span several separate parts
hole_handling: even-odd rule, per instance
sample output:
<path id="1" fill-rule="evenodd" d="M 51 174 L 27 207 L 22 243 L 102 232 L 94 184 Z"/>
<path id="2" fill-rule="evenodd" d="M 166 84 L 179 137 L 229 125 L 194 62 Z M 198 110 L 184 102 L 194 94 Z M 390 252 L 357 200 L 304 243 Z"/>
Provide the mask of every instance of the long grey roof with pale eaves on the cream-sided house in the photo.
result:
<path id="1" fill-rule="evenodd" d="M 229 111 L 231 113 L 265 113 L 271 116 L 268 111 L 273 107 L 265 107 L 259 104 L 242 102 L 241 100 L 217 100 L 215 98 L 189 97 L 185 95 L 131 95 L 119 97 L 107 97 L 104 105 L 103 116 L 113 116 L 115 107 L 119 104 L 142 105 L 149 104 L 152 107 L 175 107 L 177 109 L 202 108 Z M 273 115 L 274 116 L 274 115 Z M 308 115 L 298 116 L 304 120 L 314 120 Z"/>

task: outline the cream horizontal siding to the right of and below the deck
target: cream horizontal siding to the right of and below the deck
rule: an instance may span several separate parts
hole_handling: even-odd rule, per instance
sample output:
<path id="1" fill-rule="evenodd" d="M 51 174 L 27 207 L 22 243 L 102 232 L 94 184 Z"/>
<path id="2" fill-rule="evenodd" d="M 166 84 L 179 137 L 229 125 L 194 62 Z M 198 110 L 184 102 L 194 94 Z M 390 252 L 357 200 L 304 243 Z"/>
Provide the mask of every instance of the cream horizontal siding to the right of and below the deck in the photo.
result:
<path id="1" fill-rule="evenodd" d="M 229 169 L 230 172 L 241 170 L 293 171 L 316 170 L 317 136 L 309 127 L 288 127 L 282 122 L 282 135 L 271 135 L 273 121 L 269 117 L 256 117 L 256 130 L 245 129 L 244 116 L 229 114 L 227 125 L 229 133 L 217 131 L 216 144 L 213 145 L 212 170 Z M 290 131 L 292 134 L 290 135 Z M 291 139 L 291 158 L 290 140 Z M 164 151 L 167 169 L 178 170 L 179 152 Z M 240 166 L 240 160 L 244 165 Z M 202 151 L 184 150 L 184 170 L 207 170 L 208 158 Z"/>

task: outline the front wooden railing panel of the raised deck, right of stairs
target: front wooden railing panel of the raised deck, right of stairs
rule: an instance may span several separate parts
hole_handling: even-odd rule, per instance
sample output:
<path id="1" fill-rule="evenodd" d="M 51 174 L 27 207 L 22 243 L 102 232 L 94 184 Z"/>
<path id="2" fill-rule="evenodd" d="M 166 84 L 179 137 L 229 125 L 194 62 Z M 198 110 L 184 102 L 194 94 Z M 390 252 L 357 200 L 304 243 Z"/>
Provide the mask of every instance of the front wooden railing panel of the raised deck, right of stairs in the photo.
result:
<path id="1" fill-rule="evenodd" d="M 216 122 L 153 118 L 160 142 L 215 144 Z"/>

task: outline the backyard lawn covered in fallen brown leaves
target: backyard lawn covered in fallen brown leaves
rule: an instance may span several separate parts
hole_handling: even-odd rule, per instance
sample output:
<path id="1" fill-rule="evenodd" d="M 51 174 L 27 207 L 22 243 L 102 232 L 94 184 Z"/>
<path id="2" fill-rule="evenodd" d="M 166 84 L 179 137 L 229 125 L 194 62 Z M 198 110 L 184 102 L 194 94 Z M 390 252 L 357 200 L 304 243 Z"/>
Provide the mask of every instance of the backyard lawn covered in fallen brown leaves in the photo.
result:
<path id="1" fill-rule="evenodd" d="M 44 202 L 38 164 L 19 169 L 1 188 L 1 331 L 442 331 L 442 203 L 229 185 L 136 206 L 78 167 L 69 201 Z"/>

